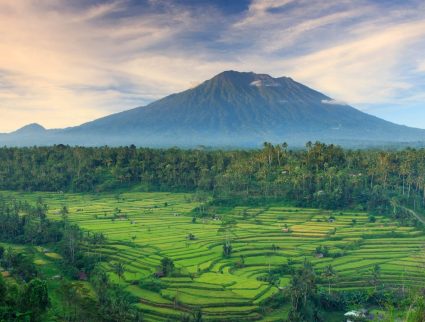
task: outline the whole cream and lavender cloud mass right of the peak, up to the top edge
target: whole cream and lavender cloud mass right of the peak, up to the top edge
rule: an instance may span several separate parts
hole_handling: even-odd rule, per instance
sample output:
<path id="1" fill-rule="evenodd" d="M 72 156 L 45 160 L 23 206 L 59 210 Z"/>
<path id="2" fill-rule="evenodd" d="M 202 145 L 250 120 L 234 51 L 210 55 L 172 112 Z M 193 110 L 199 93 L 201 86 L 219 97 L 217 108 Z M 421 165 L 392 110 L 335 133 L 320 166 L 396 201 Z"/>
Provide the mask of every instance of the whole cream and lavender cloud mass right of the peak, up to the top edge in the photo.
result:
<path id="1" fill-rule="evenodd" d="M 425 91 L 415 75 L 425 50 L 424 9 L 412 1 L 254 1 L 224 41 L 250 48 L 243 59 L 250 65 L 339 100 L 391 102 Z"/>

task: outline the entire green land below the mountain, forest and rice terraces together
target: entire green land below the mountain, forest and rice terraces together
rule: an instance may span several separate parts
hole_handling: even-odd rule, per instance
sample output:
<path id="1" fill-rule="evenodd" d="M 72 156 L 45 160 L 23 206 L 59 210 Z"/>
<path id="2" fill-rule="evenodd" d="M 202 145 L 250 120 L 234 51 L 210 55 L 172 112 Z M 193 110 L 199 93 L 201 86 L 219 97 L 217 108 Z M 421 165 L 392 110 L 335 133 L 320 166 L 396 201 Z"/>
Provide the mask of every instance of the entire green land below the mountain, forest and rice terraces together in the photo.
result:
<path id="1" fill-rule="evenodd" d="M 424 150 L 0 156 L 3 319 L 421 321 Z"/>

